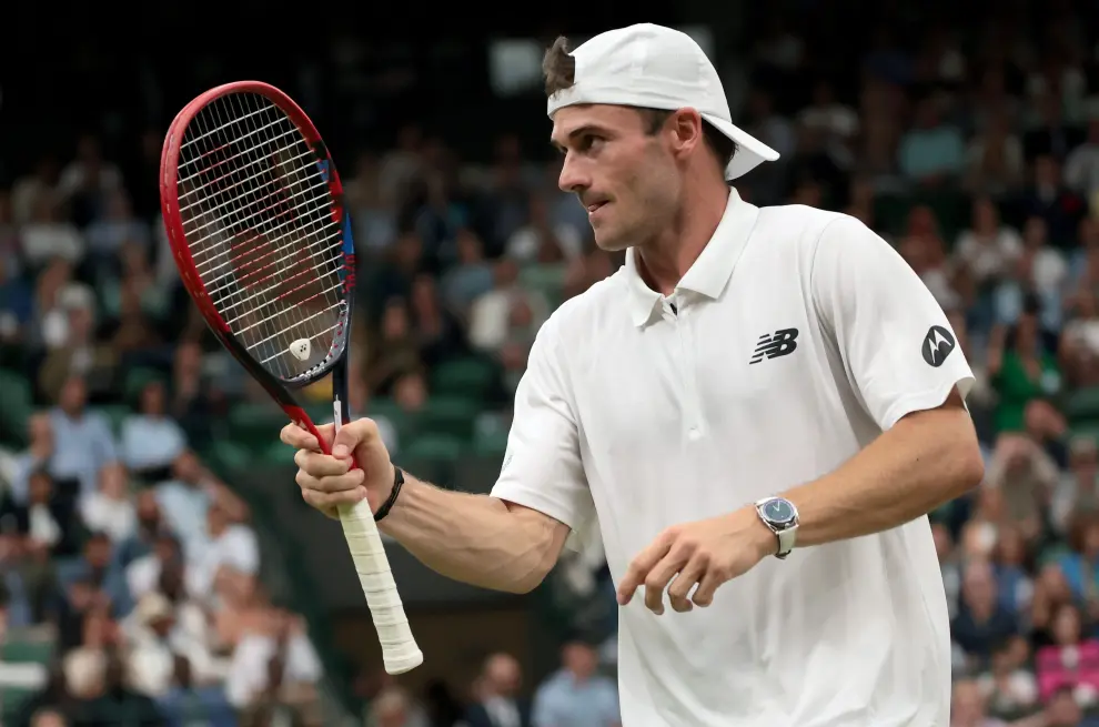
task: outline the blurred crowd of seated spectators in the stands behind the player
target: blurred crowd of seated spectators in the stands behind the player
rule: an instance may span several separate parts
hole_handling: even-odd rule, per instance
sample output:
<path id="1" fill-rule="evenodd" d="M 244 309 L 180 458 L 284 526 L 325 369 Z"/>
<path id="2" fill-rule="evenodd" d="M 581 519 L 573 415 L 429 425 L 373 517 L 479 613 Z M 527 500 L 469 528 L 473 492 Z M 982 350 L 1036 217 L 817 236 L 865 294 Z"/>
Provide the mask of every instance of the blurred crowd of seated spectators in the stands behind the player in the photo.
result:
<path id="1" fill-rule="evenodd" d="M 782 153 L 738 180 L 742 196 L 877 230 L 947 310 L 977 377 L 986 482 L 932 516 L 951 727 L 1099 724 L 1090 20 L 1063 0 L 1002 3 L 965 28 L 901 13 L 840 49 L 856 53 L 844 65 L 835 39 L 774 18 L 739 63 L 739 123 Z M 545 123 L 537 109 L 532 124 Z M 4 724 L 317 724 L 317 655 L 259 582 L 249 507 L 213 474 L 215 423 L 263 397 L 177 282 L 160 141 L 108 150 L 84 135 L 0 186 L 0 698 L 24 698 Z M 477 431 L 506 432 L 538 326 L 621 256 L 594 248 L 584 210 L 556 189 L 559 162 L 531 161 L 518 137 L 476 161 L 409 124 L 391 148 L 354 151 L 342 152 L 363 261 L 353 408 L 377 414 L 399 461 L 440 455 L 407 421 L 443 421 L 454 390 L 438 372 L 476 362 L 488 373 L 473 418 L 496 421 Z M 465 699 L 371 684 L 369 724 L 613 727 L 613 592 L 598 538 L 585 539 L 550 586 L 584 634 L 559 672 L 524 686 L 497 654 L 460 685 Z M 39 680 L 7 668 L 42 643 Z"/>

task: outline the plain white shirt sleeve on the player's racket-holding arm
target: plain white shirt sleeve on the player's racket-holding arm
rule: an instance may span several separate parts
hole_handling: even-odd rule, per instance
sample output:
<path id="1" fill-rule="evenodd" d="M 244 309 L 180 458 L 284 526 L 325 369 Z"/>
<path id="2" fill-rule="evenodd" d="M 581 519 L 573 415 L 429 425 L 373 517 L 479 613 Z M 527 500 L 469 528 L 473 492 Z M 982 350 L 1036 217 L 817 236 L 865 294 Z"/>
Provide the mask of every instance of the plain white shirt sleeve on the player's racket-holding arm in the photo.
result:
<path id="1" fill-rule="evenodd" d="M 538 331 L 515 392 L 515 414 L 493 497 L 536 509 L 573 532 L 594 512 L 579 433 L 562 365 L 559 321 Z"/>

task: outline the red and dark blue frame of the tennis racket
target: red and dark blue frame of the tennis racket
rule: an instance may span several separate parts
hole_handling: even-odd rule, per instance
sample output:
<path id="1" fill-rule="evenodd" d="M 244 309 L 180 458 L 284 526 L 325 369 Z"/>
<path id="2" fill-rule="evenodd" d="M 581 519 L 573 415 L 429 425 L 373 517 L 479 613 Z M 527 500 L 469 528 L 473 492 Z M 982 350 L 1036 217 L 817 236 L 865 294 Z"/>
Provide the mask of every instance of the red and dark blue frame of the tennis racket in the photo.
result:
<path id="1" fill-rule="evenodd" d="M 251 374 L 252 377 L 255 378 L 261 386 L 263 386 L 271 397 L 275 400 L 279 406 L 282 407 L 282 411 L 286 413 L 286 416 L 289 416 L 292 422 L 296 423 L 302 428 L 307 430 L 313 436 L 315 436 L 321 450 L 325 454 L 331 454 L 331 447 L 321 436 L 316 425 L 310 418 L 305 410 L 302 408 L 296 401 L 294 401 L 294 397 L 290 394 L 288 388 L 301 388 L 302 386 L 309 385 L 310 383 L 323 377 L 331 371 L 333 376 L 332 388 L 341 402 L 341 423 L 347 422 L 346 357 L 347 347 L 351 341 L 351 309 L 354 306 L 354 253 L 344 253 L 344 283 L 346 286 L 344 296 L 347 301 L 347 314 L 344 322 L 346 330 L 343 332 L 343 351 L 333 356 L 332 360 L 324 366 L 319 367 L 316 372 L 312 372 L 307 378 L 302 378 L 296 382 L 288 382 L 268 372 L 268 370 L 256 362 L 244 349 L 244 346 L 236 341 L 236 337 L 233 335 L 225 321 L 218 313 L 213 301 L 210 299 L 205 286 L 202 284 L 202 280 L 199 276 L 199 271 L 195 269 L 194 261 L 191 258 L 191 250 L 188 246 L 186 234 L 183 231 L 183 221 L 180 215 L 179 203 L 178 166 L 180 147 L 183 143 L 184 132 L 191 121 L 194 120 L 202 109 L 213 103 L 216 99 L 231 93 L 255 93 L 258 95 L 262 95 L 281 109 L 290 121 L 298 127 L 298 130 L 302 133 L 306 144 L 314 151 L 314 153 L 316 153 L 315 161 L 319 164 L 326 164 L 329 191 L 332 194 L 332 215 L 340 224 L 342 234 L 344 235 L 345 250 L 354 250 L 353 242 L 350 236 L 350 218 L 344 208 L 343 184 L 340 182 L 340 175 L 336 173 L 335 164 L 329 154 L 327 147 L 321 139 L 320 132 L 317 132 L 316 127 L 313 125 L 313 122 L 305 114 L 305 112 L 302 111 L 301 107 L 294 103 L 293 99 L 273 85 L 263 83 L 262 81 L 238 81 L 234 83 L 225 83 L 224 85 L 215 87 L 196 97 L 193 101 L 183 107 L 183 109 L 175 115 L 175 119 L 172 121 L 172 124 L 169 127 L 168 133 L 164 137 L 164 147 L 161 151 L 160 158 L 160 199 L 161 211 L 163 212 L 164 218 L 164 229 L 168 232 L 168 240 L 172 249 L 172 255 L 175 258 L 175 265 L 179 267 L 180 276 L 183 279 L 183 285 L 186 287 L 188 293 L 191 294 L 191 299 L 194 300 L 195 305 L 198 305 L 199 312 L 205 320 L 206 325 L 214 333 L 225 350 L 229 351 L 229 353 L 232 354 L 232 356 L 236 359 L 242 366 L 244 366 L 249 374 Z M 353 463 L 353 466 L 357 465 Z"/>

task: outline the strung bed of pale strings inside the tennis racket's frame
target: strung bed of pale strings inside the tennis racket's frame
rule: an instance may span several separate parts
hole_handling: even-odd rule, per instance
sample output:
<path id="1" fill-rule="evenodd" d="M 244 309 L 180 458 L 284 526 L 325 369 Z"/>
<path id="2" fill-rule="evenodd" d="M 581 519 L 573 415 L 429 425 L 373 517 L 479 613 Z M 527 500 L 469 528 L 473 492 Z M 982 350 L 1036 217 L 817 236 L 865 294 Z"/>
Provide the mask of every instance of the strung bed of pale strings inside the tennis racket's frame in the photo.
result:
<path id="1" fill-rule="evenodd" d="M 343 234 L 304 138 L 265 97 L 232 93 L 188 125 L 180 213 L 206 295 L 252 355 L 288 380 L 323 363 L 346 313 Z M 319 352 L 291 355 L 307 340 Z M 310 347 L 305 349 L 310 351 Z"/>

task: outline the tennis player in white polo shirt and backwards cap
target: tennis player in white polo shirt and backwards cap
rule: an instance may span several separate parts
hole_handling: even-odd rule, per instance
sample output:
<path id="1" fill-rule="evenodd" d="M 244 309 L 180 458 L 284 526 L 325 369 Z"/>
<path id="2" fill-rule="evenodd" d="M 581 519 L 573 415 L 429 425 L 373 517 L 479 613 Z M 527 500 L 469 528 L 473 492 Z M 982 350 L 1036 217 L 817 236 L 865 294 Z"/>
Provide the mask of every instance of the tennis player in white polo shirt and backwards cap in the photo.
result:
<path id="1" fill-rule="evenodd" d="M 561 188 L 625 266 L 542 327 L 491 496 L 394 468 L 361 420 L 333 456 L 284 430 L 305 501 L 367 497 L 432 568 L 512 592 L 597 515 L 626 727 L 946 725 L 926 513 L 982 475 L 946 315 L 857 220 L 729 189 L 777 154 L 687 36 L 558 41 L 546 75 Z"/>

